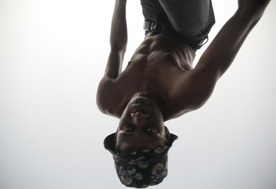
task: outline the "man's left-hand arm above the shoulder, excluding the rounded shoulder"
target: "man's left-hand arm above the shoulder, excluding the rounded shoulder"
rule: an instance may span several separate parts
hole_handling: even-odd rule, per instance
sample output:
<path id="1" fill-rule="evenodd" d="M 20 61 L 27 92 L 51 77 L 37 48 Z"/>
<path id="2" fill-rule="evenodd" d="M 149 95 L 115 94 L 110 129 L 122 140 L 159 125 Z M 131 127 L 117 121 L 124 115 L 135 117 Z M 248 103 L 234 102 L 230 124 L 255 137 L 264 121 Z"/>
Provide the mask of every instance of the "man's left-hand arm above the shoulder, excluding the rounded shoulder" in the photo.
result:
<path id="1" fill-rule="evenodd" d="M 127 42 L 126 0 L 115 0 L 110 30 L 110 54 L 104 77 L 116 79 L 121 73 Z"/>

